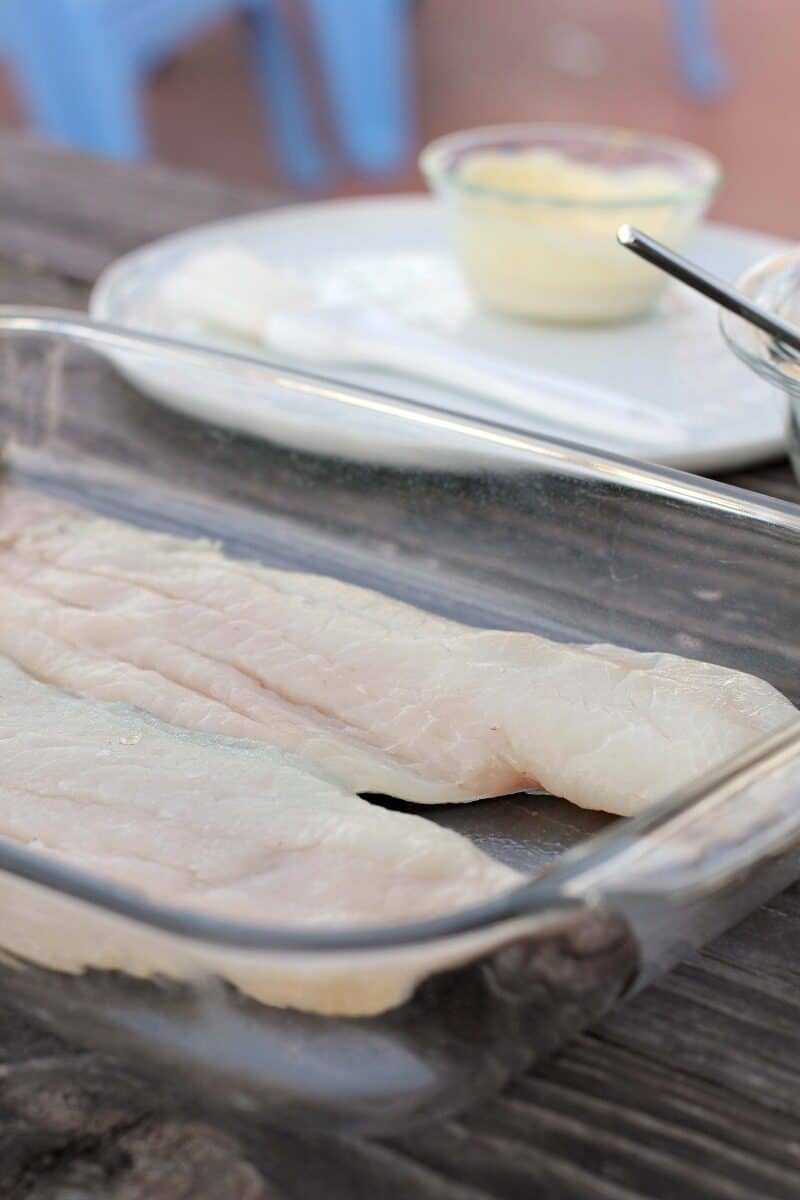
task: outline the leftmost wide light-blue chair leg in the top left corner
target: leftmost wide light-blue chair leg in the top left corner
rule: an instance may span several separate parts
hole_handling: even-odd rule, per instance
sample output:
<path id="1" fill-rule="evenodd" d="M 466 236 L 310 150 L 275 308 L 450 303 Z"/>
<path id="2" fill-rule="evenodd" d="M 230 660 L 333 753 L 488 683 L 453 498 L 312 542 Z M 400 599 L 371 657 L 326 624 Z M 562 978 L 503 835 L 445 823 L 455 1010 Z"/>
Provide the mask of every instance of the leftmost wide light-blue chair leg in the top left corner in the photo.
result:
<path id="1" fill-rule="evenodd" d="M 134 67 L 88 0 L 4 0 L 11 66 L 46 137 L 133 158 L 145 150 Z"/>

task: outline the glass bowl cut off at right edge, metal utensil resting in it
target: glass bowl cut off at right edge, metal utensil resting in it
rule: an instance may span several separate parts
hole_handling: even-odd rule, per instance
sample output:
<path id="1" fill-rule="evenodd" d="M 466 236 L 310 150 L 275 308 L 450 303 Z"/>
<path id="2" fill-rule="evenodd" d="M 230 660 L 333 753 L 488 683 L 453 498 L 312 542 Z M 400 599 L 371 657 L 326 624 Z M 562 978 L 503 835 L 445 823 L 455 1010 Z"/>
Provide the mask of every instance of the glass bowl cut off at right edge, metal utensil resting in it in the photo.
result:
<path id="1" fill-rule="evenodd" d="M 800 329 L 800 246 L 760 259 L 735 287 L 753 304 Z M 787 449 L 800 480 L 800 354 L 724 308 L 720 308 L 720 329 L 734 354 L 786 395 Z"/>

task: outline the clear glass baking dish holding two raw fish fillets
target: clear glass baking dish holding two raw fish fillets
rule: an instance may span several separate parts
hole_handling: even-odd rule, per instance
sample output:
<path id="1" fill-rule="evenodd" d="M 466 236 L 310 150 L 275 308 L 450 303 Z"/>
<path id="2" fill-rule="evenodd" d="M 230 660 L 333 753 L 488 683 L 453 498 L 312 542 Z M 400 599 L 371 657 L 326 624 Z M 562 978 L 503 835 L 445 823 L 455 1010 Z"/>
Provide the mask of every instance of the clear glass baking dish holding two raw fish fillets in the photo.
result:
<path id="1" fill-rule="evenodd" d="M 13 484 L 468 624 L 676 652 L 800 700 L 790 505 L 73 313 L 2 310 L 0 335 Z M 176 410 L 209 396 L 258 406 L 276 440 Z M 335 428 L 338 456 L 282 445 L 287 413 L 308 444 Z M 371 439 L 395 460 L 371 462 Z M 638 818 L 545 794 L 425 815 L 530 882 L 425 923 L 289 930 L 0 844 L 6 1001 L 246 1136 L 452 1112 L 800 875 L 800 730 Z"/>

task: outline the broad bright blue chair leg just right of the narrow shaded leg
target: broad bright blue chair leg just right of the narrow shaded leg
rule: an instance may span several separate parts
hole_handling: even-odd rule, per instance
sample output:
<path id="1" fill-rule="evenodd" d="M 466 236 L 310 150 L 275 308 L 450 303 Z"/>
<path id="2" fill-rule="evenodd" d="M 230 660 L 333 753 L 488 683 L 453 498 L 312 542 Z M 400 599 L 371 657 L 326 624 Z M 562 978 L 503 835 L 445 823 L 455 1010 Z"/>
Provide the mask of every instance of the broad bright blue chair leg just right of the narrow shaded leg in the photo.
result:
<path id="1" fill-rule="evenodd" d="M 363 170 L 399 167 L 411 146 L 408 0 L 306 0 L 338 138 Z"/>

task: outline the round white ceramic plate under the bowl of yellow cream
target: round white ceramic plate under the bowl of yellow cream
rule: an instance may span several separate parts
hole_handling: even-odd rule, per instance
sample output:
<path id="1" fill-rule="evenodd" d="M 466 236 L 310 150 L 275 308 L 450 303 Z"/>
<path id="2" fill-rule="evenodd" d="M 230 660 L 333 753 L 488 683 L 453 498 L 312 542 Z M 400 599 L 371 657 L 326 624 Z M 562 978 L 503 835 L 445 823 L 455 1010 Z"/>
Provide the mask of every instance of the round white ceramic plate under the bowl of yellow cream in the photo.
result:
<path id="1" fill-rule="evenodd" d="M 781 452 L 783 402 L 780 394 L 754 379 L 724 346 L 716 310 L 678 284 L 664 293 L 657 310 L 640 320 L 615 326 L 542 326 L 481 312 L 462 284 L 447 248 L 440 214 L 427 197 L 378 197 L 294 205 L 234 221 L 201 226 L 152 242 L 112 264 L 91 295 L 94 317 L 206 344 L 252 347 L 215 337 L 160 301 L 167 276 L 187 254 L 218 244 L 235 244 L 294 270 L 327 298 L 374 296 L 409 322 L 523 367 L 559 371 L 620 392 L 640 396 L 680 413 L 691 425 L 691 440 L 650 452 L 646 443 L 608 440 L 603 449 L 624 449 L 637 457 L 688 470 L 740 467 Z M 764 234 L 712 224 L 696 235 L 691 254 L 728 280 L 783 244 Z M 264 352 L 271 362 L 289 360 Z M 219 386 L 198 371 L 164 372 L 132 356 L 118 360 L 142 390 L 181 412 L 270 438 L 312 452 L 336 454 L 371 462 L 416 466 L 463 464 L 463 444 L 446 434 L 429 434 L 421 454 L 419 438 L 403 439 L 397 424 L 354 410 L 347 421 L 326 419 L 324 400 L 303 397 L 287 403 L 265 398 L 242 377 Z M 297 364 L 295 364 L 297 365 Z M 319 368 L 314 368 L 319 371 Z M 326 372 L 329 373 L 329 372 Z M 246 373 L 245 373 L 246 374 Z M 331 377 L 378 388 L 395 396 L 426 401 L 450 410 L 489 418 L 581 440 L 579 433 L 541 419 L 525 421 L 498 404 L 389 372 L 336 368 Z M 593 439 L 595 443 L 597 439 Z"/>

